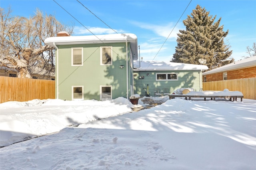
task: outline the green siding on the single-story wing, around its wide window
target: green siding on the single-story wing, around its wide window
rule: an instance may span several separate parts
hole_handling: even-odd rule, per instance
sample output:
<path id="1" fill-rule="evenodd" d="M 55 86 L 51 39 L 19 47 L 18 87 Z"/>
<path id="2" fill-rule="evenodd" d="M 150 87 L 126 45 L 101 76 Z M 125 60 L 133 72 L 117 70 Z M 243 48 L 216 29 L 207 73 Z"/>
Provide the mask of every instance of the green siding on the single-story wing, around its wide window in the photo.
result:
<path id="1" fill-rule="evenodd" d="M 200 90 L 200 71 L 134 71 L 134 93 L 141 96 L 146 95 L 147 84 L 150 96 L 154 96 L 154 88 L 168 88 L 170 93 L 179 88 L 194 88 L 195 91 Z M 156 73 L 178 73 L 178 80 L 172 81 L 156 81 Z M 149 76 L 147 76 L 149 74 Z M 144 79 L 139 79 L 144 76 Z M 202 77 L 201 77 L 202 78 Z M 202 81 L 202 79 L 201 79 Z"/>

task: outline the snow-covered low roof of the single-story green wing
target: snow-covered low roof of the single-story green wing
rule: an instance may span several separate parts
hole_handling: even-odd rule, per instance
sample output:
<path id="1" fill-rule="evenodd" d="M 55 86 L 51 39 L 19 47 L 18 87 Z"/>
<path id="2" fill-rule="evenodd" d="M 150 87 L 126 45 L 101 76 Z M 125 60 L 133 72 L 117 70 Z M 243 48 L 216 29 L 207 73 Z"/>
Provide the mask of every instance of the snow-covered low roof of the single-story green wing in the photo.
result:
<path id="1" fill-rule="evenodd" d="M 134 61 L 134 71 L 207 70 L 206 65 L 174 63 L 164 61 Z"/>

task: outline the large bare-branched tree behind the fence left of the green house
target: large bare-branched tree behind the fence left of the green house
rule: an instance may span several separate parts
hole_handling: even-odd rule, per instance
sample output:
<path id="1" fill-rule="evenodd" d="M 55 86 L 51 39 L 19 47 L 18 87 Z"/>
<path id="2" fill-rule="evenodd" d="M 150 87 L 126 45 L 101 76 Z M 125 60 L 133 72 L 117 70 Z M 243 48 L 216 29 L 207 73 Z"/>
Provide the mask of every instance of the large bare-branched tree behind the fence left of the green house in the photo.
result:
<path id="1" fill-rule="evenodd" d="M 43 16 L 40 10 L 30 18 L 10 14 L 10 9 L 0 8 L 0 66 L 15 69 L 22 78 L 32 78 L 30 73 L 50 76 L 55 72 L 54 48 L 44 40 L 63 30 L 72 34 L 74 27 L 60 24 L 52 15 Z"/>

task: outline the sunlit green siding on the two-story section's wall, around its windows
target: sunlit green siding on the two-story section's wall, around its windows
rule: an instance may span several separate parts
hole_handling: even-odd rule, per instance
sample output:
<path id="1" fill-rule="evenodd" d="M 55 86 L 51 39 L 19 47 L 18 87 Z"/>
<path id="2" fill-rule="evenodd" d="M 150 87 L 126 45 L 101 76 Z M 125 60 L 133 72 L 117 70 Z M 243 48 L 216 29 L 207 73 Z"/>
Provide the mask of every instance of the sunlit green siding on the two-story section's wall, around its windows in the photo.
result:
<path id="1" fill-rule="evenodd" d="M 100 47 L 107 45 L 112 46 L 113 65 L 100 65 Z M 83 47 L 83 66 L 71 66 L 72 47 Z M 100 85 L 112 85 L 113 99 L 126 97 L 126 43 L 59 45 L 58 51 L 59 99 L 72 100 L 75 85 L 84 86 L 84 100 L 100 100 Z"/>

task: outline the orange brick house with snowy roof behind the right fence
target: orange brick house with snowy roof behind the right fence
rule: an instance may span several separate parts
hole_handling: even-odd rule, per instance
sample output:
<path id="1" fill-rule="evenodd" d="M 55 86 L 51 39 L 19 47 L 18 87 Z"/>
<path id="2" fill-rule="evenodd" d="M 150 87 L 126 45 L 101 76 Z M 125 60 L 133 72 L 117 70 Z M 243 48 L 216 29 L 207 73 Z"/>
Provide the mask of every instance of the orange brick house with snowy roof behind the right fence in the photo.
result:
<path id="1" fill-rule="evenodd" d="M 235 61 L 203 73 L 204 82 L 256 77 L 256 56 Z"/>

